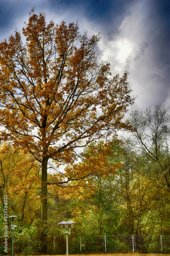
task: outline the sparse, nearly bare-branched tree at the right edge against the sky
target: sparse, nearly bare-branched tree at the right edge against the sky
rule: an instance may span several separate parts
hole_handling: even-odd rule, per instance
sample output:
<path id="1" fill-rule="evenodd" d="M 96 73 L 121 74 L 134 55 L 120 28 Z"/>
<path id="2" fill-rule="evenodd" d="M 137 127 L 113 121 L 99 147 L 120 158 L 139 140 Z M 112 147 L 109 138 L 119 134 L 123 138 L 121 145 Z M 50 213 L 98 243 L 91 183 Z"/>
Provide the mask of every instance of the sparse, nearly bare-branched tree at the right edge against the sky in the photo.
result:
<path id="1" fill-rule="evenodd" d="M 145 110 L 133 108 L 129 122 L 134 132 L 128 142 L 152 162 L 152 171 L 148 169 L 150 178 L 152 177 L 155 183 L 156 180 L 165 183 L 170 192 L 169 110 L 169 106 L 162 103 Z"/>

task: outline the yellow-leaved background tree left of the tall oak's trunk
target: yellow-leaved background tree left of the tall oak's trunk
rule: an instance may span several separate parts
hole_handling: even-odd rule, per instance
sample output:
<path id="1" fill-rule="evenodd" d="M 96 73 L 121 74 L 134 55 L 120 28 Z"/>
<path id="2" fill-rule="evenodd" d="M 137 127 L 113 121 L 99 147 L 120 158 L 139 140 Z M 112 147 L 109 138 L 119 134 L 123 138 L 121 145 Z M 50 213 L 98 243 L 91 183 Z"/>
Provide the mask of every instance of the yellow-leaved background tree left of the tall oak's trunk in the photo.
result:
<path id="1" fill-rule="evenodd" d="M 16 149 L 9 148 L 7 144 L 0 148 L 0 165 L 2 206 L 4 207 L 4 195 L 7 195 L 8 213 L 12 212 L 18 216 L 20 226 L 32 223 L 38 213 L 37 197 L 40 193 L 38 168 L 40 166 L 37 165 L 32 155 L 17 152 Z"/>

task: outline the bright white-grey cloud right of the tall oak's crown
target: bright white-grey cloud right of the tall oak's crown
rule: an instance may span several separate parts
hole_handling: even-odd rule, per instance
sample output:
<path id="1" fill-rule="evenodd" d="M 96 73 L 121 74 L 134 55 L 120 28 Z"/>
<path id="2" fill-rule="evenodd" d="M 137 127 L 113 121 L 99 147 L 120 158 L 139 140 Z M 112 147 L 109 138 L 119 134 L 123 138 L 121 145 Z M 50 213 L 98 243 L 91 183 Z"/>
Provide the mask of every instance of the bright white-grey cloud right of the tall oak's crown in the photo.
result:
<path id="1" fill-rule="evenodd" d="M 136 104 L 141 107 L 169 102 L 169 70 L 161 78 L 158 77 L 145 93 L 142 91 L 145 84 L 153 80 L 156 72 L 162 69 L 161 61 L 158 61 L 162 51 L 159 47 L 161 31 L 153 22 L 147 22 L 149 18 L 149 12 L 143 11 L 135 3 L 130 9 L 130 15 L 125 17 L 124 25 L 117 31 L 113 29 L 115 33 L 103 37 L 99 44 L 101 59 L 110 62 L 113 75 L 122 75 L 125 70 L 130 73 L 129 81 L 137 96 Z"/>

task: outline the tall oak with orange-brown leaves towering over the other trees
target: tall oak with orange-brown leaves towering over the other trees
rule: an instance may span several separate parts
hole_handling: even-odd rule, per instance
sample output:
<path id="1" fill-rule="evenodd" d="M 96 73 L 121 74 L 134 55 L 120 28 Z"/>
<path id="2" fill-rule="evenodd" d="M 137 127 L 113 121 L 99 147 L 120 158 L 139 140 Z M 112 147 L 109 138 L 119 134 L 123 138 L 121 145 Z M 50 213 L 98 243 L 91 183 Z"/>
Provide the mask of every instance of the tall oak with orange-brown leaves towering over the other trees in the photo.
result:
<path id="1" fill-rule="evenodd" d="M 78 158 L 75 148 L 107 138 L 133 104 L 127 72 L 111 77 L 95 52 L 99 35 L 80 35 L 77 24 L 46 24 L 30 13 L 23 35 L 15 31 L 0 44 L 1 140 L 31 153 L 42 165 L 42 221 L 47 223 L 47 167 Z M 63 175 L 63 176 L 62 176 Z M 59 175 L 57 184 L 89 175 L 85 170 Z"/>

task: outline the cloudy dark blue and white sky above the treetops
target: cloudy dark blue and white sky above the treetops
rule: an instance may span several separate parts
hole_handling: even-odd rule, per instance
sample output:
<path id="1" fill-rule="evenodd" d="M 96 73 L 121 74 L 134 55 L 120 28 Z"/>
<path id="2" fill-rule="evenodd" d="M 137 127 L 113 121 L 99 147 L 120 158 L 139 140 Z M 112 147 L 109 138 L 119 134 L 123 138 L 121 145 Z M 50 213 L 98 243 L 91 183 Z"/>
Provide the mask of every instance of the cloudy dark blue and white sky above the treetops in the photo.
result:
<path id="1" fill-rule="evenodd" d="M 22 33 L 33 6 L 47 22 L 78 20 L 82 34 L 100 32 L 99 58 L 110 62 L 113 75 L 129 72 L 138 106 L 170 103 L 168 0 L 1 0 L 1 40 L 16 28 Z"/>

